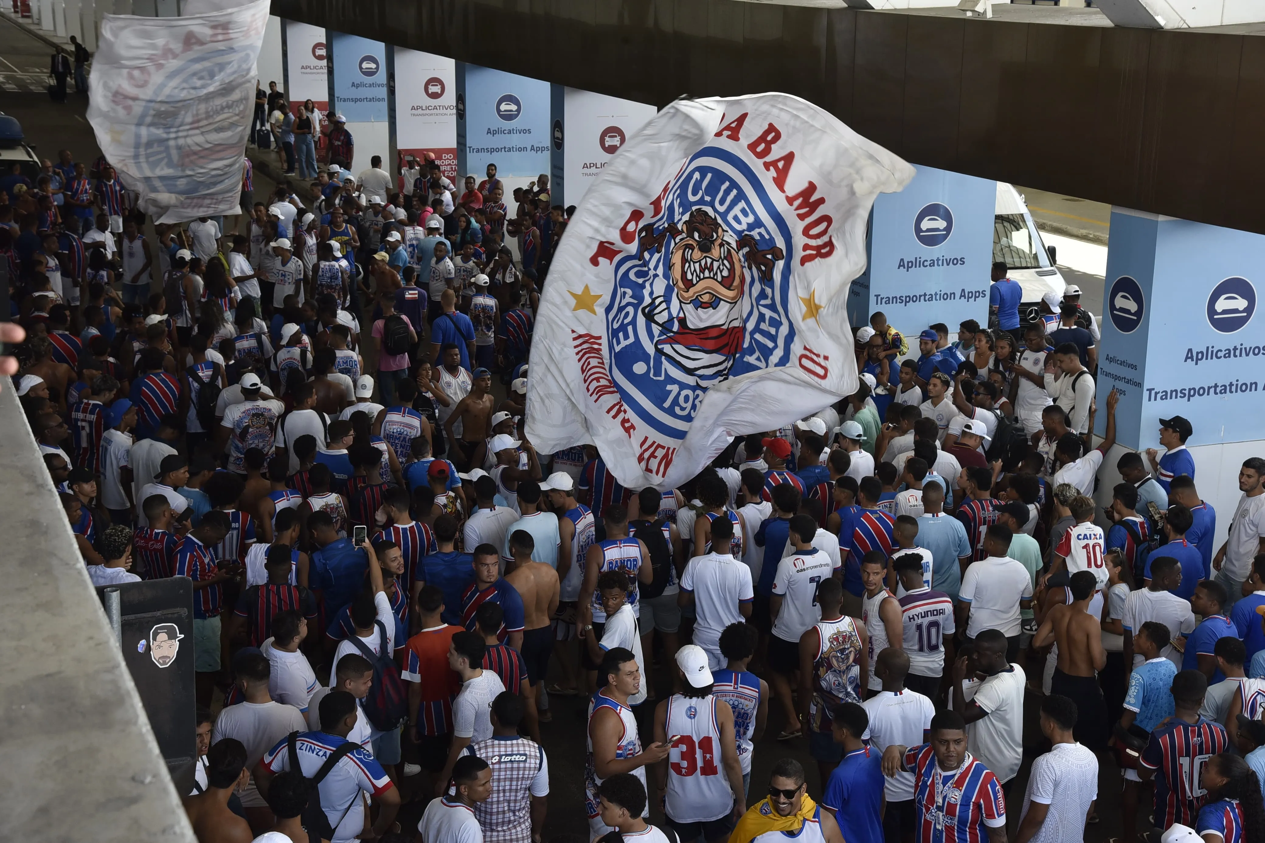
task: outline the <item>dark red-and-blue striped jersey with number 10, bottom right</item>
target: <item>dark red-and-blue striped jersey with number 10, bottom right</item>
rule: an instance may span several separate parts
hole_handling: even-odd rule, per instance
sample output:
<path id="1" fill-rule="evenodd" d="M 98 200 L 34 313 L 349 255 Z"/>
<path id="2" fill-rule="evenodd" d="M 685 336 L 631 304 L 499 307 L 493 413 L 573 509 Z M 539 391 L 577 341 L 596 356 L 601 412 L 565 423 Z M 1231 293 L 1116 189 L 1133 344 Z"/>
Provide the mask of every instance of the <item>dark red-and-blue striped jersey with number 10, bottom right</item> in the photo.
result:
<path id="1" fill-rule="evenodd" d="M 1202 717 L 1187 723 L 1176 717 L 1151 732 L 1138 763 L 1155 770 L 1155 825 L 1190 825 L 1208 791 L 1203 768 L 1208 758 L 1225 752 L 1230 737 L 1219 723 Z"/>

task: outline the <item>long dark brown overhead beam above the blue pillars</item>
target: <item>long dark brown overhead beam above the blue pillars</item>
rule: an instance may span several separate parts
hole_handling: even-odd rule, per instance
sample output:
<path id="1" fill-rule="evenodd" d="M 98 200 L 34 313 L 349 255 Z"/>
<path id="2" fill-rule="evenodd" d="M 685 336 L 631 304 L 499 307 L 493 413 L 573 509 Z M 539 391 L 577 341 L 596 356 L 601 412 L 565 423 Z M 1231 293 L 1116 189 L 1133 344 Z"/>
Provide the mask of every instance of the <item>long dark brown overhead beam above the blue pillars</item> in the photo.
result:
<path id="1" fill-rule="evenodd" d="M 663 106 L 782 90 L 915 164 L 1265 233 L 1265 38 L 736 0 L 273 0 Z"/>

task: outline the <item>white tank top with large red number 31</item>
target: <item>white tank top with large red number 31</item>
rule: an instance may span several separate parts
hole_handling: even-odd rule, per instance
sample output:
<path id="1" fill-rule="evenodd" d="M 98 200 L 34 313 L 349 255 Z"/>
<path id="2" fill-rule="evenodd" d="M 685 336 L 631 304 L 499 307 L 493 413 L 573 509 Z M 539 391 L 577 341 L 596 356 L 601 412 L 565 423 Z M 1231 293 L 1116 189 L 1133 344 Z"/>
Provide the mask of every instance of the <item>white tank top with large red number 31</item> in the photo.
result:
<path id="1" fill-rule="evenodd" d="M 664 729 L 668 752 L 667 814 L 677 823 L 710 823 L 734 809 L 734 794 L 721 763 L 716 698 L 673 694 Z"/>

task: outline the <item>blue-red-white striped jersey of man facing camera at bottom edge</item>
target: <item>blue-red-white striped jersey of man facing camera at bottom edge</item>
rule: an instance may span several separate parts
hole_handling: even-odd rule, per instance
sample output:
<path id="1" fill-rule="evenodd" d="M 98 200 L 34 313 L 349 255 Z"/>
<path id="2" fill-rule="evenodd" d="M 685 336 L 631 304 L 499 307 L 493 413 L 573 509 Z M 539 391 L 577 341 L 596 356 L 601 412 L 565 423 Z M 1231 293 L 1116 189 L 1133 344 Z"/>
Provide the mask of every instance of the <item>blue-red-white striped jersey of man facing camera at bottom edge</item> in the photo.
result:
<path id="1" fill-rule="evenodd" d="M 918 843 L 988 843 L 987 825 L 1006 825 L 1006 798 L 993 772 L 968 752 L 951 775 L 941 775 L 930 743 L 904 753 L 915 776 Z"/>

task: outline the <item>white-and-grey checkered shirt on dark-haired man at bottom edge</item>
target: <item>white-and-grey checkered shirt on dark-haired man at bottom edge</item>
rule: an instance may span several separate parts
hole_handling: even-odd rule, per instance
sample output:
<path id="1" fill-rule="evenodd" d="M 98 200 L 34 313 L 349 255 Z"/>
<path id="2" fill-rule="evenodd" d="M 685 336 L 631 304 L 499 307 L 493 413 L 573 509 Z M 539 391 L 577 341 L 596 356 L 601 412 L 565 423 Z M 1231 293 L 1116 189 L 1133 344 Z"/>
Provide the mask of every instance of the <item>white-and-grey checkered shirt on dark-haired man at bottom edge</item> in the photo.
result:
<path id="1" fill-rule="evenodd" d="M 474 805 L 484 843 L 531 843 L 531 798 L 549 795 L 549 762 L 539 743 L 516 734 L 495 734 L 462 749 L 487 761 L 492 795 Z M 453 840 L 452 837 L 426 838 Z"/>

